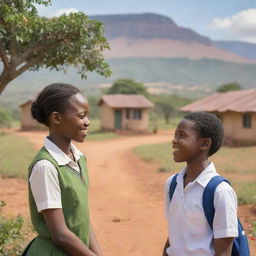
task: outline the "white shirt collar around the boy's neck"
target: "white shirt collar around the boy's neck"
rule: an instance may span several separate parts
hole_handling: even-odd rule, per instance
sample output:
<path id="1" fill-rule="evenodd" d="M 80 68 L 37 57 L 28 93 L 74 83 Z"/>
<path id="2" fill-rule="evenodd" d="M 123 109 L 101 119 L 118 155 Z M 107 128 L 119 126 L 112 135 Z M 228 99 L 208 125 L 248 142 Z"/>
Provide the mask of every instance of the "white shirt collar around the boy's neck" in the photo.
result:
<path id="1" fill-rule="evenodd" d="M 183 168 L 177 176 L 177 182 L 183 183 L 184 175 L 186 174 L 186 168 Z M 215 166 L 213 162 L 211 162 L 194 180 L 194 182 L 198 182 L 201 186 L 206 187 L 209 180 L 217 174 Z"/>

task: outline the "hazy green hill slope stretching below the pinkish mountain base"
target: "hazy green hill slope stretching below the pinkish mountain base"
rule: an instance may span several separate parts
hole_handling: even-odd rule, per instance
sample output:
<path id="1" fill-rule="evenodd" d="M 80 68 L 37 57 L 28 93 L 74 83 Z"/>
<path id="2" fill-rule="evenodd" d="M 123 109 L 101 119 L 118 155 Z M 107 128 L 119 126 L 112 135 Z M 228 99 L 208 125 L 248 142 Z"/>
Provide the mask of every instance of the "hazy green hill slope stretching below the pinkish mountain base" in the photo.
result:
<path id="1" fill-rule="evenodd" d="M 81 80 L 74 69 L 62 72 L 40 70 L 26 72 L 4 91 L 1 101 L 16 105 L 33 98 L 45 85 L 66 82 L 77 85 L 87 94 L 99 93 L 100 88 L 118 78 L 133 78 L 145 83 L 151 91 L 198 97 L 214 92 L 223 83 L 237 81 L 244 89 L 256 88 L 256 65 L 220 60 L 181 58 L 123 58 L 108 60 L 113 71 L 111 78 L 89 74 Z M 4 99 L 4 98 L 5 99 Z"/>

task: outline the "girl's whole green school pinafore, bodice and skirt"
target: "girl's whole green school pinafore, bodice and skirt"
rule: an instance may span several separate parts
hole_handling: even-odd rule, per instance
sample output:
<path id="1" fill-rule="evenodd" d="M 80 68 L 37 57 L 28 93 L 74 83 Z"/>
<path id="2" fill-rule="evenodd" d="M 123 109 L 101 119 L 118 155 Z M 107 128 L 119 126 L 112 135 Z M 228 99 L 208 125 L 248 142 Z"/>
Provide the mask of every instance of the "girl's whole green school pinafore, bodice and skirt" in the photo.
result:
<path id="1" fill-rule="evenodd" d="M 89 246 L 89 207 L 88 207 L 88 172 L 86 159 L 78 160 L 80 173 L 75 173 L 67 165 L 59 166 L 56 160 L 43 147 L 29 167 L 29 177 L 34 164 L 40 160 L 50 161 L 58 171 L 61 190 L 62 210 L 67 227 L 76 234 L 85 245 Z M 61 248 L 53 243 L 43 215 L 37 211 L 36 203 L 29 187 L 29 208 L 32 224 L 38 236 L 26 248 L 26 256 L 66 256 Z"/>

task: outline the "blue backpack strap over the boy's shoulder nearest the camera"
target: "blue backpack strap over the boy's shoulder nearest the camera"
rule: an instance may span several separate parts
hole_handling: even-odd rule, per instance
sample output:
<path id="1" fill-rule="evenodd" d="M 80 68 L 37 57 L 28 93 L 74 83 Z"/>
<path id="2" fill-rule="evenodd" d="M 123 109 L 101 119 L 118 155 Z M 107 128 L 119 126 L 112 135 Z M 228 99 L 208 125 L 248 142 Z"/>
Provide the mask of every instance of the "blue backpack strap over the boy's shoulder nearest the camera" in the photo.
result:
<path id="1" fill-rule="evenodd" d="M 230 184 L 230 182 L 227 179 L 225 179 L 224 177 L 219 176 L 219 175 L 214 176 L 213 178 L 211 178 L 211 180 L 208 182 L 208 184 L 206 185 L 206 187 L 204 189 L 204 193 L 203 193 L 204 214 L 205 214 L 205 217 L 206 217 L 211 229 L 213 229 L 213 218 L 214 218 L 214 214 L 215 214 L 214 193 L 215 193 L 217 186 L 223 181 Z"/>

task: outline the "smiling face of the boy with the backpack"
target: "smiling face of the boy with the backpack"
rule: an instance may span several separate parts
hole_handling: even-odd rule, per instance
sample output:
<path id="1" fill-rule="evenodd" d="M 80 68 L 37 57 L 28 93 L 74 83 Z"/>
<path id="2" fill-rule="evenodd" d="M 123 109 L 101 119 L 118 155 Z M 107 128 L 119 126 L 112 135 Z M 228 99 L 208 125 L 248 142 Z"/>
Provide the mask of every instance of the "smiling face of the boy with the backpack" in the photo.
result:
<path id="1" fill-rule="evenodd" d="M 181 120 L 172 141 L 174 161 L 189 163 L 201 157 L 203 140 L 194 128 L 193 121 Z"/>

